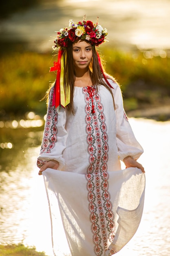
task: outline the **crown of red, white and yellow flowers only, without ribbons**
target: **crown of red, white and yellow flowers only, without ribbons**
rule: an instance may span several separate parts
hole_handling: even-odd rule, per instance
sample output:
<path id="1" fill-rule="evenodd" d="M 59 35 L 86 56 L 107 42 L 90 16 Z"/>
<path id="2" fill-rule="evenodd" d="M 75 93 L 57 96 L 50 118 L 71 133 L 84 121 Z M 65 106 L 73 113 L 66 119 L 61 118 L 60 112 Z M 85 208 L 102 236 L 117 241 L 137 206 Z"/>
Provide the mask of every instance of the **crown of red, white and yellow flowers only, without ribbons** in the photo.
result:
<path id="1" fill-rule="evenodd" d="M 74 42 L 77 39 L 87 40 L 91 45 L 101 45 L 105 42 L 107 36 L 107 29 L 103 29 L 98 22 L 93 23 L 91 20 L 86 21 L 86 16 L 84 16 L 83 21 L 77 23 L 73 20 L 69 20 L 68 27 L 60 29 L 57 31 L 57 36 L 55 38 L 55 45 L 53 50 L 57 47 L 62 47 L 66 49 L 68 42 Z M 98 17 L 97 17 L 98 21 Z"/>

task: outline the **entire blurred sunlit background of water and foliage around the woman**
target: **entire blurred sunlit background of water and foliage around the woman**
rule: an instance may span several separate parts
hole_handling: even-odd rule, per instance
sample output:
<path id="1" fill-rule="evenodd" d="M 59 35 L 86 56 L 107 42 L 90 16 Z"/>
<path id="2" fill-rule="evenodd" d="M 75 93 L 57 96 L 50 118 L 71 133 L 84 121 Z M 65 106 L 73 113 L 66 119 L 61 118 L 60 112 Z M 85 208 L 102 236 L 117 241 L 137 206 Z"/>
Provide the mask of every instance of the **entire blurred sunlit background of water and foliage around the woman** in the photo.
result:
<path id="1" fill-rule="evenodd" d="M 46 118 L 41 99 L 55 79 L 49 74 L 55 31 L 86 14 L 94 22 L 99 16 L 108 29 L 100 49 L 122 84 L 129 122 L 144 147 L 144 215 L 117 255 L 170 255 L 170 1 L 23 3 L 20 8 L 4 3 L 0 18 L 0 244 L 23 243 L 53 256 L 46 193 L 36 167 Z"/>

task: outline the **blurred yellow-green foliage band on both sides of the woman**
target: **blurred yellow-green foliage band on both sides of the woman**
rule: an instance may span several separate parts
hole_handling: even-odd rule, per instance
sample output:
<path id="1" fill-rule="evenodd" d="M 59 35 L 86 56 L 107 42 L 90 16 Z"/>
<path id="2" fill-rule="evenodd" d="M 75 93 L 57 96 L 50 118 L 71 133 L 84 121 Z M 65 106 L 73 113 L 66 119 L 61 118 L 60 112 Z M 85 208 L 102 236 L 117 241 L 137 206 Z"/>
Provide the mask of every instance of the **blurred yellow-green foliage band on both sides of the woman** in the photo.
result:
<path id="1" fill-rule="evenodd" d="M 106 71 L 121 85 L 125 110 L 157 106 L 170 99 L 170 58 L 145 58 L 141 51 L 121 52 L 102 48 Z M 55 80 L 51 53 L 10 52 L 0 57 L 0 116 L 10 118 L 35 111 L 46 112 L 41 101 Z"/>

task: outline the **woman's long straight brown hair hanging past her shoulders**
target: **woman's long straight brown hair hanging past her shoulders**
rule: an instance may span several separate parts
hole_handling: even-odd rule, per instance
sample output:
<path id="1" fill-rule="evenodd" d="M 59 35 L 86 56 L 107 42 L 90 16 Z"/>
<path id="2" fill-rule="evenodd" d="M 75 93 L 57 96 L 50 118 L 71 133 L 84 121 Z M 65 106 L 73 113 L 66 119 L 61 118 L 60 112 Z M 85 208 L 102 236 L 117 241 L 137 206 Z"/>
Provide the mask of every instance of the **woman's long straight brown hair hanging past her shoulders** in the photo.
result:
<path id="1" fill-rule="evenodd" d="M 64 54 L 64 90 L 65 90 L 65 94 L 67 94 L 68 89 L 70 89 L 70 103 L 66 106 L 66 111 L 68 114 L 74 115 L 73 97 L 74 97 L 74 83 L 75 83 L 75 68 L 73 65 L 73 43 L 72 42 L 68 43 L 68 47 L 66 48 L 65 51 L 67 53 L 66 59 L 65 59 L 65 52 L 63 53 Z M 113 105 L 115 108 L 115 101 L 114 101 L 113 93 L 112 93 L 109 85 L 103 79 L 101 67 L 99 64 L 98 56 L 97 56 L 97 50 L 96 50 L 95 46 L 92 46 L 92 51 L 93 51 L 93 57 L 92 57 L 91 63 L 89 64 L 91 81 L 92 81 L 93 85 L 96 86 L 97 91 L 99 89 L 99 85 L 104 85 L 110 91 L 112 98 L 113 98 Z M 104 70 L 103 65 L 102 65 L 102 68 Z M 108 76 L 107 74 L 106 74 L 106 76 L 107 76 L 107 78 L 110 78 L 113 81 L 115 81 L 115 79 L 112 76 Z M 51 87 L 52 86 L 53 85 L 51 85 Z M 49 95 L 49 91 L 51 90 L 51 87 L 47 91 L 47 95 Z"/>

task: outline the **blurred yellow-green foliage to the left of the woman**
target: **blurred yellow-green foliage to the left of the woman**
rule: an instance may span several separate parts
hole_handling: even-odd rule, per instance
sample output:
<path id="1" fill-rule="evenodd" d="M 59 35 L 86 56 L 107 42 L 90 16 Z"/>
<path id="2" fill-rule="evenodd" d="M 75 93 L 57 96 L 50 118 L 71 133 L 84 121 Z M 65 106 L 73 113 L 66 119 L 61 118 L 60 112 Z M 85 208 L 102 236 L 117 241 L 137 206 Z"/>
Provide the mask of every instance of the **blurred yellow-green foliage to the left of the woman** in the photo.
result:
<path id="1" fill-rule="evenodd" d="M 55 80 L 55 74 L 49 73 L 49 66 L 53 65 L 51 60 L 50 54 L 33 52 L 13 52 L 1 57 L 2 115 L 9 118 L 31 110 L 40 114 L 46 111 L 46 103 L 41 99 L 49 87 L 49 81 Z"/>

